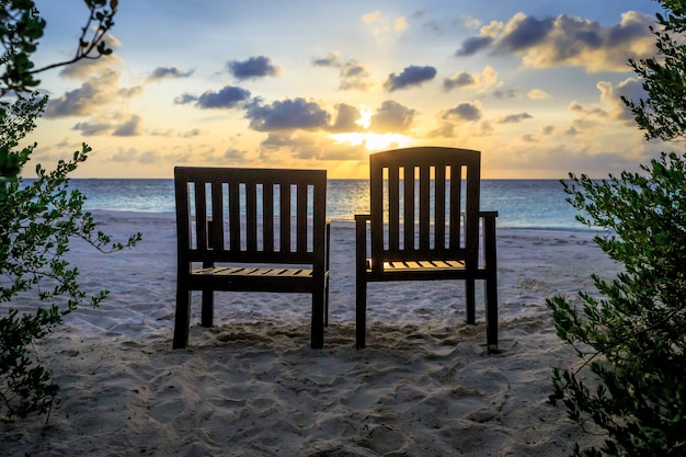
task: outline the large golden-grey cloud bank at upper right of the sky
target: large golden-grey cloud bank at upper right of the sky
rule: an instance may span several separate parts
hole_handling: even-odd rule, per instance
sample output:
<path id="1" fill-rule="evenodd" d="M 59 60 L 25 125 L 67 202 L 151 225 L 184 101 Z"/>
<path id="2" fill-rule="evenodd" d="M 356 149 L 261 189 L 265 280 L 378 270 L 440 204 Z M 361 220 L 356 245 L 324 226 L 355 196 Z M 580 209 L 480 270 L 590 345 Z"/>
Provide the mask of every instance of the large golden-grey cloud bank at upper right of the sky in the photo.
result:
<path id="1" fill-rule="evenodd" d="M 492 22 L 479 36 L 462 42 L 456 56 L 484 49 L 494 55 L 521 57 L 533 68 L 573 66 L 588 72 L 629 71 L 629 58 L 653 54 L 654 37 L 649 26 L 654 19 L 634 11 L 621 15 L 609 27 L 571 15 L 537 19 L 516 13 L 506 24 Z"/>

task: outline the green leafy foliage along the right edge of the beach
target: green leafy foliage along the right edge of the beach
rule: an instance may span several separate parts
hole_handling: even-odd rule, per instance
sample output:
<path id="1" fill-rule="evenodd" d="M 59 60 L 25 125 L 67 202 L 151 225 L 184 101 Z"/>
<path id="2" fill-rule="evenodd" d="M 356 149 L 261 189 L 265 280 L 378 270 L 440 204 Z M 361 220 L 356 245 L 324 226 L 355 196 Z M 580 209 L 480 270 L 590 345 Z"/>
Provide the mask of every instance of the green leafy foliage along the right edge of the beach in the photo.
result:
<path id="1" fill-rule="evenodd" d="M 661 1 L 658 57 L 630 61 L 648 99 L 625 100 L 648 139 L 686 132 L 686 3 Z M 624 269 L 593 275 L 596 295 L 580 292 L 581 308 L 547 300 L 558 335 L 581 358 L 553 369 L 550 402 L 562 403 L 585 431 L 605 439 L 574 456 L 686 455 L 686 155 L 663 152 L 603 181 L 570 174 L 564 191 L 582 222 L 607 230 L 599 248 Z M 603 297 L 603 298 L 598 298 Z"/>

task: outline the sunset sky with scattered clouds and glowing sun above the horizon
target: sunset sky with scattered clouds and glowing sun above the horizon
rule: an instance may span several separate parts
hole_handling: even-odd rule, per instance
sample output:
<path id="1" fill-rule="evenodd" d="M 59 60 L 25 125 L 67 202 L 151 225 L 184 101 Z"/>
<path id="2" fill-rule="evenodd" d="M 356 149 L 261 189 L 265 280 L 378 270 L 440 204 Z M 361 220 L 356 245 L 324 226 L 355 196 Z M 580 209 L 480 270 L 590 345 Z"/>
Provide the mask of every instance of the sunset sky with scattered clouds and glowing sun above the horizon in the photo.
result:
<path id="1" fill-rule="evenodd" d="M 36 62 L 70 58 L 82 0 L 37 0 Z M 665 150 L 620 95 L 654 54 L 651 0 L 119 0 L 112 56 L 42 73 L 43 163 L 93 148 L 78 178 L 175 165 L 315 168 L 480 150 L 483 179 L 596 178 Z"/>

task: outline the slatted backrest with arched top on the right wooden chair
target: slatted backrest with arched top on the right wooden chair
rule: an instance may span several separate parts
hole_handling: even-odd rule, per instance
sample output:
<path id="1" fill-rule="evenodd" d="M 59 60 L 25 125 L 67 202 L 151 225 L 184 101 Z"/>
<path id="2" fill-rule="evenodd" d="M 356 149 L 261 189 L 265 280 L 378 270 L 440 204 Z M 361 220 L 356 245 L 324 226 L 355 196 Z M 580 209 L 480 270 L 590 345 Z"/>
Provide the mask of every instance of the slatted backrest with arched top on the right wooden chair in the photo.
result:
<path id="1" fill-rule="evenodd" d="M 479 253 L 479 151 L 418 147 L 369 156 L 373 269 Z"/>

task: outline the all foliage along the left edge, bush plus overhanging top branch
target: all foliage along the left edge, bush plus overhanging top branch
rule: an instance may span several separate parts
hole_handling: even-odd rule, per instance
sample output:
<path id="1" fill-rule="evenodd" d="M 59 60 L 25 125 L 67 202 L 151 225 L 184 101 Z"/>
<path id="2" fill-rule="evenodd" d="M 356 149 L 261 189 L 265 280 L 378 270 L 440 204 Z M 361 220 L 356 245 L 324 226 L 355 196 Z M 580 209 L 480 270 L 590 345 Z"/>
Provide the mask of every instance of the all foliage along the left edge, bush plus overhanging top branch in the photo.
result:
<path id="1" fill-rule="evenodd" d="M 7 316 L 0 318 L 0 412 L 8 420 L 49 412 L 58 391 L 50 373 L 30 347 L 83 300 L 90 298 L 91 305 L 98 306 L 108 294 L 101 290 L 88 297 L 81 290 L 79 271 L 65 258 L 70 241 L 80 238 L 99 251 L 112 252 L 134 245 L 141 237 L 136 233 L 124 244 L 113 242 L 83 210 L 85 196 L 69 188 L 69 173 L 91 152 L 87 145 L 52 171 L 37 164 L 34 181 L 19 178 L 36 147 L 20 148 L 20 141 L 35 128 L 35 119 L 47 103 L 47 98 L 35 95 L 39 83 L 35 75 L 112 53 L 104 37 L 114 25 L 117 0 L 83 1 L 90 15 L 75 56 L 36 69 L 32 56 L 45 20 L 31 0 L 0 0 L 4 49 L 0 55 L 0 304 L 20 300 L 36 309 L 20 312 L 9 307 Z M 16 95 L 14 103 L 4 100 L 11 94 Z"/>

